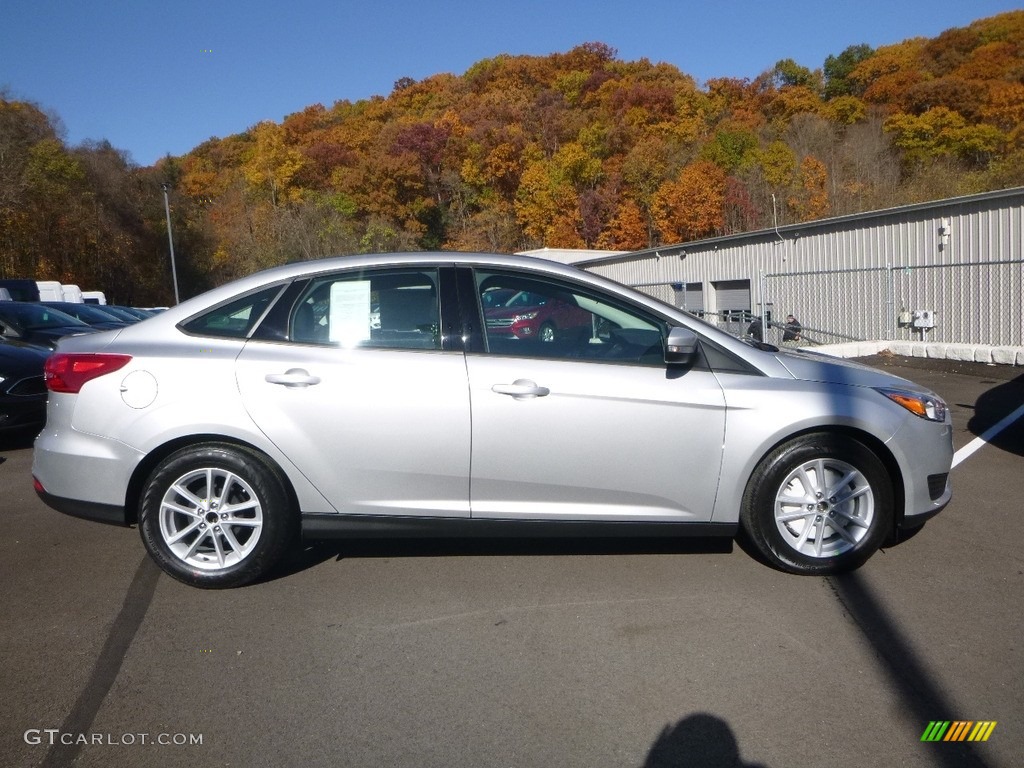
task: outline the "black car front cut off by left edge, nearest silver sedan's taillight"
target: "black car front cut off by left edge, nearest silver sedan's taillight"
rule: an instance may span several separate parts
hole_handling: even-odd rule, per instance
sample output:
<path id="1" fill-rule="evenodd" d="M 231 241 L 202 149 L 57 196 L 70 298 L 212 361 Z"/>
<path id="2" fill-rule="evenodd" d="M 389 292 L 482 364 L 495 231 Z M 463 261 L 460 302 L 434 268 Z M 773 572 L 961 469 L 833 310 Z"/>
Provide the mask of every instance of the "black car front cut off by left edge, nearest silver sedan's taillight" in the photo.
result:
<path id="1" fill-rule="evenodd" d="M 38 432 L 46 422 L 48 349 L 0 339 L 0 434 Z"/>

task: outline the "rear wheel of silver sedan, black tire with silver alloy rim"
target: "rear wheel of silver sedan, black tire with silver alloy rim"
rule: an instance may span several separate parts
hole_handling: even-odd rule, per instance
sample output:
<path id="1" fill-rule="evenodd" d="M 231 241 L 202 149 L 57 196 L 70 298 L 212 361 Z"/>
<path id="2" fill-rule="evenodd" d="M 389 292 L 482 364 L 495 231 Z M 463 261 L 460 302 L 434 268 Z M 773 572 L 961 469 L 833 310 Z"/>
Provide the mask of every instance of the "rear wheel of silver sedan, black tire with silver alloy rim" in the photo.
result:
<path id="1" fill-rule="evenodd" d="M 203 443 L 154 469 L 142 488 L 138 527 L 168 575 L 225 589 L 276 565 L 296 539 L 298 518 L 268 460 L 237 445 Z"/>

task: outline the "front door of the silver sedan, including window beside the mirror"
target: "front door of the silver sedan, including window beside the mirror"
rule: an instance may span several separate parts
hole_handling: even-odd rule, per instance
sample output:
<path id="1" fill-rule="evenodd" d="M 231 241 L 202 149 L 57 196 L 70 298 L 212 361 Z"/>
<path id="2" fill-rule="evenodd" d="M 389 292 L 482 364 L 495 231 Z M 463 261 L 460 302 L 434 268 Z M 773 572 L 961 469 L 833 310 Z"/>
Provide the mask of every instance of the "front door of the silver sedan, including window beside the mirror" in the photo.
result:
<path id="1" fill-rule="evenodd" d="M 476 299 L 499 289 L 546 293 L 577 315 L 549 342 L 488 329 L 483 350 L 467 354 L 473 517 L 711 520 L 723 391 L 708 370 L 665 364 L 660 321 L 591 289 L 516 272 L 477 269 L 473 286 Z"/>

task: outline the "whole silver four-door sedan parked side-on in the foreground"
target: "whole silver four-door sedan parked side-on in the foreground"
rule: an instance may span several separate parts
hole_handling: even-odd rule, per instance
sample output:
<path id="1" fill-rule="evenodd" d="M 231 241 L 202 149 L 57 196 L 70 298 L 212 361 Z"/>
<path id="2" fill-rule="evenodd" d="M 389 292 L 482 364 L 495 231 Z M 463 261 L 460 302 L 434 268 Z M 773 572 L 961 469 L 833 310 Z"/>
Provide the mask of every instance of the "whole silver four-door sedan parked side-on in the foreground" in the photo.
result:
<path id="1" fill-rule="evenodd" d="M 833 573 L 950 498 L 934 393 L 523 257 L 278 267 L 65 339 L 46 379 L 39 496 L 197 587 L 299 537 L 740 535 Z"/>

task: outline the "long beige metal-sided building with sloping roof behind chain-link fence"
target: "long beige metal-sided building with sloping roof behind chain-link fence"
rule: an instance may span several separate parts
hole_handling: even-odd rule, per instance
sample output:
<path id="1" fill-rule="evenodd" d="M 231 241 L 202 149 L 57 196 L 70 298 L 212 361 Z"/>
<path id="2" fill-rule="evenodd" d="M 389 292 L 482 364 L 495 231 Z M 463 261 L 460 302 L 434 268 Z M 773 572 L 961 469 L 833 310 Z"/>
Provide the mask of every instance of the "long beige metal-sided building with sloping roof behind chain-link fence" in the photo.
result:
<path id="1" fill-rule="evenodd" d="M 768 341 L 792 313 L 818 343 L 1022 346 L 1022 230 L 1016 187 L 574 263 Z"/>

